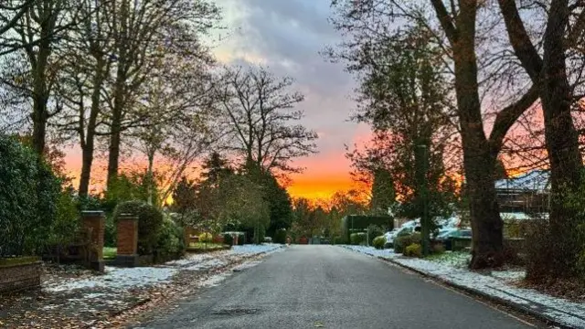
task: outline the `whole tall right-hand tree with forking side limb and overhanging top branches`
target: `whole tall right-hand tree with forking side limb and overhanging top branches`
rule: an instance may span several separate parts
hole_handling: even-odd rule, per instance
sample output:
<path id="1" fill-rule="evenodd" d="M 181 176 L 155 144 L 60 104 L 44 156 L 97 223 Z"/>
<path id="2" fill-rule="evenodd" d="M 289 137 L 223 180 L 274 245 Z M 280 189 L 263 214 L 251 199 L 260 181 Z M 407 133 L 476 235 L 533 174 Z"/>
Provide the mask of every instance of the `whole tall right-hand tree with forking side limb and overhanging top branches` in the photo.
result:
<path id="1" fill-rule="evenodd" d="M 537 87 L 533 86 L 524 94 L 499 107 L 493 122 L 492 132 L 486 137 L 480 90 L 489 90 L 480 80 L 479 69 L 494 69 L 494 64 L 485 64 L 486 58 L 478 60 L 479 48 L 487 48 L 480 42 L 478 35 L 478 10 L 483 1 L 450 1 L 448 7 L 441 0 L 412 1 L 342 1 L 332 2 L 337 8 L 335 27 L 351 37 L 352 43 L 359 47 L 368 42 L 383 43 L 388 38 L 396 37 L 400 25 L 416 24 L 425 27 L 430 33 L 431 42 L 444 50 L 443 60 L 454 76 L 457 117 L 459 120 L 462 144 L 463 167 L 467 189 L 470 196 L 470 212 L 473 227 L 473 260 L 471 267 L 480 269 L 499 266 L 503 257 L 503 223 L 495 199 L 495 163 L 505 138 L 505 134 L 516 119 L 529 108 L 538 96 Z M 431 16 L 435 19 L 429 19 Z M 495 33 L 496 23 L 487 21 L 481 26 L 482 32 Z M 489 35 L 482 35 L 481 40 L 493 40 Z M 494 47 L 492 47 L 494 48 Z M 489 48 L 487 48 L 489 53 Z M 502 48 L 503 53 L 507 50 Z M 493 54 L 489 54 L 493 55 Z M 494 57 L 491 57 L 494 59 Z M 506 58 L 504 58 L 506 59 Z M 487 61 L 494 63 L 494 60 Z M 507 60 L 496 68 L 505 68 Z M 479 64 L 482 64 L 480 67 Z M 491 66 L 490 66 L 491 65 Z M 501 75 L 483 74 L 490 80 L 497 80 Z"/>

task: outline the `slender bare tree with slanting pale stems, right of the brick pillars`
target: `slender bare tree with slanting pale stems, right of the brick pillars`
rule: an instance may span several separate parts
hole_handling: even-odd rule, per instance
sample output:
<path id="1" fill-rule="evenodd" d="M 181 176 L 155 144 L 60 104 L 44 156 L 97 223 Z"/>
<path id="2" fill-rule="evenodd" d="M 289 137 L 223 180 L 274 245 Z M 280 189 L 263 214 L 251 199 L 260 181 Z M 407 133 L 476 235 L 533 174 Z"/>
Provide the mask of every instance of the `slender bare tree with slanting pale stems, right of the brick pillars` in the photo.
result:
<path id="1" fill-rule="evenodd" d="M 144 96 L 137 102 L 146 118 L 129 131 L 137 140 L 134 147 L 148 160 L 149 203 L 152 203 L 154 157 L 163 155 L 174 165 L 165 170 L 164 201 L 172 193 L 187 166 L 216 142 L 216 113 L 208 93 L 212 89 L 208 73 L 211 58 L 202 48 L 197 58 L 161 54 L 159 64 L 149 74 Z"/>

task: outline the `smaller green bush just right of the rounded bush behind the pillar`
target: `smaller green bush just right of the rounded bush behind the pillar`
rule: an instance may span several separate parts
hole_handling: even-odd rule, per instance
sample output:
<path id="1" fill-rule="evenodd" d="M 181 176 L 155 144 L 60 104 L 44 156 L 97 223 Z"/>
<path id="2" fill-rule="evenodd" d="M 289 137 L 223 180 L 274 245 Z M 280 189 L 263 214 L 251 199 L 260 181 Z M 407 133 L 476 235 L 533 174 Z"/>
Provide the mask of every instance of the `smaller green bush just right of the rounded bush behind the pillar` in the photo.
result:
<path id="1" fill-rule="evenodd" d="M 155 261 L 179 259 L 185 251 L 183 228 L 176 225 L 171 218 L 165 218 L 158 233 L 155 248 Z"/>

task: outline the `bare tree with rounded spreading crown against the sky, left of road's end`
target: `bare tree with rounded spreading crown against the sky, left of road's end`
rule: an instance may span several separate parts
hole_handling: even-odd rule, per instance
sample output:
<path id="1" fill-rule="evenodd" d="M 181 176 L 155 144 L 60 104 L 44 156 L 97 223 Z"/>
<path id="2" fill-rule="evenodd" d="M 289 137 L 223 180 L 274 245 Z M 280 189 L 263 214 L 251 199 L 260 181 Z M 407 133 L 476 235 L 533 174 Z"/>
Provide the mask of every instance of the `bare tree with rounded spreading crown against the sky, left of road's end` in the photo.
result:
<path id="1" fill-rule="evenodd" d="M 242 155 L 246 165 L 283 173 L 299 171 L 290 161 L 315 153 L 316 133 L 301 124 L 303 101 L 291 92 L 290 78 L 276 78 L 267 69 L 227 69 L 216 88 L 219 109 L 229 131 L 229 148 Z"/>

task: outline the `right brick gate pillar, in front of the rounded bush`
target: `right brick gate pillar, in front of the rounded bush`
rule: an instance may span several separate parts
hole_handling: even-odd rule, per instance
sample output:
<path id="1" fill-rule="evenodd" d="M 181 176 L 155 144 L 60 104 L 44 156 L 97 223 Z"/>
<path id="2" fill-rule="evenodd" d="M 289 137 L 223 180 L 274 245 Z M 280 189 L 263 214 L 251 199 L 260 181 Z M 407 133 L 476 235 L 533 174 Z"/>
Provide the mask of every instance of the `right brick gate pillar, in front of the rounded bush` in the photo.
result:
<path id="1" fill-rule="evenodd" d="M 115 264 L 135 267 L 138 261 L 138 217 L 122 214 L 118 217 L 118 250 Z"/>

